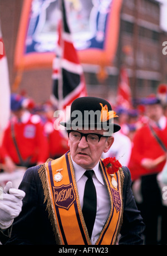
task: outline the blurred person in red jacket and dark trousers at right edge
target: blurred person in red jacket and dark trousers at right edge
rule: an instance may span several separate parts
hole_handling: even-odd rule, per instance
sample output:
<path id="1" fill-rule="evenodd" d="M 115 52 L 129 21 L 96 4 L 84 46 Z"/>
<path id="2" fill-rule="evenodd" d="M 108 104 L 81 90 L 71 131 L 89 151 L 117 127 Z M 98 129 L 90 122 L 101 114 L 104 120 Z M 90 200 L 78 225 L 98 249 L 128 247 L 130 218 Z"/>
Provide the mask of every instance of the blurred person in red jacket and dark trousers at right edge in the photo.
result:
<path id="1" fill-rule="evenodd" d="M 129 168 L 132 181 L 141 184 L 139 207 L 145 223 L 145 244 L 166 244 L 167 208 L 157 178 L 166 162 L 167 119 L 159 98 L 149 96 L 143 103 L 147 122 L 135 133 Z"/>

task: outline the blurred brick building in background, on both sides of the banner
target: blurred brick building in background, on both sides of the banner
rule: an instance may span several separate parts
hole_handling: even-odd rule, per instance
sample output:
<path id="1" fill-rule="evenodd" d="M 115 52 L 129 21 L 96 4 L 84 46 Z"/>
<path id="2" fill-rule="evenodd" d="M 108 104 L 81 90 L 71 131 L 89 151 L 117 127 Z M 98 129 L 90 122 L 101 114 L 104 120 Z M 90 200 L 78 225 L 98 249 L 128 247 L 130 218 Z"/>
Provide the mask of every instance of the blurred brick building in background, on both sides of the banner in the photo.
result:
<path id="1" fill-rule="evenodd" d="M 4 45 L 8 57 L 11 85 L 14 82 L 14 46 L 17 37 L 22 0 L 0 0 L 0 17 Z M 163 55 L 166 33 L 160 29 L 160 4 L 155 0 L 123 0 L 119 44 L 114 63 L 106 67 L 109 74 L 105 81 L 97 80 L 97 66 L 83 65 L 89 95 L 115 99 L 117 78 L 122 62 L 127 67 L 132 95 L 145 96 L 155 93 L 158 84 L 167 83 L 167 55 Z M 122 55 L 129 47 L 130 54 Z M 25 71 L 18 91 L 26 90 L 36 102 L 50 98 L 52 67 Z"/>

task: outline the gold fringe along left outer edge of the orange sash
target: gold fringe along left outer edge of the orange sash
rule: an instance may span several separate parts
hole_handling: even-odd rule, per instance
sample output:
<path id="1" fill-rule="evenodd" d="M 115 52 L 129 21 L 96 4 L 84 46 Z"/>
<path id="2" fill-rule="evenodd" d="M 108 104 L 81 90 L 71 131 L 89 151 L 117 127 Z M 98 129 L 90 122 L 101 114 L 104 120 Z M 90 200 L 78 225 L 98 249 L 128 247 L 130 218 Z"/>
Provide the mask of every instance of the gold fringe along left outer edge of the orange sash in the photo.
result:
<path id="1" fill-rule="evenodd" d="M 51 158 L 49 158 L 46 163 L 52 161 Z M 42 187 L 43 187 L 43 193 L 45 195 L 45 199 L 44 202 L 45 203 L 47 201 L 47 206 L 46 206 L 46 210 L 48 211 L 48 216 L 49 219 L 51 221 L 51 225 L 53 228 L 53 233 L 55 235 L 55 239 L 56 239 L 56 243 L 61 244 L 61 238 L 59 235 L 59 231 L 58 231 L 58 227 L 57 227 L 57 223 L 56 223 L 56 219 L 54 218 L 54 210 L 52 207 L 52 201 L 51 201 L 51 196 L 50 196 L 50 190 L 48 189 L 48 183 L 47 183 L 47 175 L 46 175 L 46 166 L 45 163 L 39 168 L 38 170 L 38 174 L 40 176 L 41 182 L 42 182 Z"/>

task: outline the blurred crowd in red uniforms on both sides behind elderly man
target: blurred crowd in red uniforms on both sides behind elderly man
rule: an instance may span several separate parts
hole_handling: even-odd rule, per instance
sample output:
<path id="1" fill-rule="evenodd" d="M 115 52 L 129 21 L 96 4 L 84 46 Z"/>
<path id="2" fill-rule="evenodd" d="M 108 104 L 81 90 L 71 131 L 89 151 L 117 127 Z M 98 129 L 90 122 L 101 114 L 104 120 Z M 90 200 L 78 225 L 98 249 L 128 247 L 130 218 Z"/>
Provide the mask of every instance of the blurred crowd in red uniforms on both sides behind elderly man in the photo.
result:
<path id="1" fill-rule="evenodd" d="M 112 146 L 101 152 L 102 158 L 116 157 L 130 170 L 135 203 L 145 224 L 144 244 L 167 244 L 167 206 L 158 181 L 167 151 L 165 103 L 158 95 L 150 95 L 135 109 L 115 107 L 119 117 L 114 118 L 114 123 L 121 129 L 112 135 Z M 11 110 L 0 148 L 1 163 L 5 166 L 1 172 L 12 173 L 16 166 L 39 166 L 48 158 L 58 159 L 70 149 L 69 134 L 53 125 L 56 109 L 50 102 L 35 105 L 21 95 L 12 94 Z"/>

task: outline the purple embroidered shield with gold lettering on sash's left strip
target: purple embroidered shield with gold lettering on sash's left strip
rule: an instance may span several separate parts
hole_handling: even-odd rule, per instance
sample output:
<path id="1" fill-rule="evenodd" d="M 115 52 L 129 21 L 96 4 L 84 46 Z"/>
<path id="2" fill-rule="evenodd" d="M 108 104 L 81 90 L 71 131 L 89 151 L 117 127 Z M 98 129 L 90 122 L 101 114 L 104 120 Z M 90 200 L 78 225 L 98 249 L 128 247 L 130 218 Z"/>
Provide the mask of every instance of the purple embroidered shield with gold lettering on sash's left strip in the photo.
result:
<path id="1" fill-rule="evenodd" d="M 76 199 L 72 183 L 68 185 L 62 185 L 60 187 L 53 187 L 53 190 L 55 204 L 58 207 L 68 210 Z"/>

